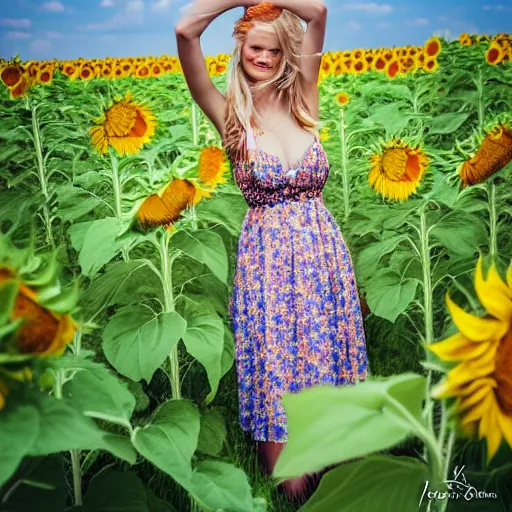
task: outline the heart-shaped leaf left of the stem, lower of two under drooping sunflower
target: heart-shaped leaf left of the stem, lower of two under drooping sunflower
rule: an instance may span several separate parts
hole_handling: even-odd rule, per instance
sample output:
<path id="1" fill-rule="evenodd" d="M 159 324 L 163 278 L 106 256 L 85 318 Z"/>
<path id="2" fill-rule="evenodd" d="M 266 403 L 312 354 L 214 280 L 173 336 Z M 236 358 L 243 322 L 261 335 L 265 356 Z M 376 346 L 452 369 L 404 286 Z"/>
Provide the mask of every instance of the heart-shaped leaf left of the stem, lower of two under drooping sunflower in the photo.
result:
<path id="1" fill-rule="evenodd" d="M 149 382 L 186 327 L 174 311 L 154 316 L 148 308 L 128 306 L 110 318 L 103 331 L 103 351 L 119 373 Z"/>

